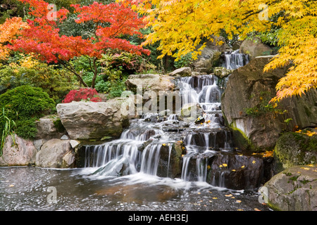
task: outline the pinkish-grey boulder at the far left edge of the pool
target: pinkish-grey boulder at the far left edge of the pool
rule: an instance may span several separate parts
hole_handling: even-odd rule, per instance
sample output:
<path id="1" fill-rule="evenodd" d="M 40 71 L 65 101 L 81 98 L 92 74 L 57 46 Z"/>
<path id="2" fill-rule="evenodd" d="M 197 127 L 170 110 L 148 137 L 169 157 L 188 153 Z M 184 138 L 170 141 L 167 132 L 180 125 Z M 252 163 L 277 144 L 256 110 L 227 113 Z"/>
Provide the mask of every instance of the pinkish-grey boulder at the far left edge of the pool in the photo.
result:
<path id="1" fill-rule="evenodd" d="M 1 167 L 9 166 L 25 166 L 35 163 L 37 149 L 32 141 L 21 139 L 19 136 L 14 136 L 14 141 L 11 136 L 6 137 L 2 156 L 0 158 Z"/>

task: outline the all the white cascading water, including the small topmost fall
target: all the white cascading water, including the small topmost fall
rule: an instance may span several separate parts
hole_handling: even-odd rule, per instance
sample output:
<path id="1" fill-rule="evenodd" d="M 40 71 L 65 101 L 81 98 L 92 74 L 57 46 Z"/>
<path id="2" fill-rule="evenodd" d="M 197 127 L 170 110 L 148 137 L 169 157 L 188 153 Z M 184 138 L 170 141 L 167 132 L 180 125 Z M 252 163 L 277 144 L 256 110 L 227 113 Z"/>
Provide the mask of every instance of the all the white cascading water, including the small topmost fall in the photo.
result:
<path id="1" fill-rule="evenodd" d="M 246 60 L 238 51 L 226 54 L 228 68 L 238 68 Z M 157 176 L 158 168 L 163 163 L 161 155 L 168 155 L 164 162 L 166 170 L 159 176 L 175 178 L 175 174 L 170 175 L 172 145 L 183 141 L 186 154 L 182 156 L 178 176 L 185 181 L 206 181 L 208 159 L 232 149 L 231 134 L 224 126 L 220 109 L 222 91 L 217 84 L 218 77 L 214 75 L 180 77 L 181 107 L 197 103 L 204 112 L 201 117 L 184 125 L 180 109 L 165 117 L 161 117 L 159 112 L 144 114 L 123 131 L 120 139 L 86 146 L 85 167 L 96 167 L 93 174 L 106 176 L 137 173 Z M 168 148 L 163 148 L 166 143 Z"/>

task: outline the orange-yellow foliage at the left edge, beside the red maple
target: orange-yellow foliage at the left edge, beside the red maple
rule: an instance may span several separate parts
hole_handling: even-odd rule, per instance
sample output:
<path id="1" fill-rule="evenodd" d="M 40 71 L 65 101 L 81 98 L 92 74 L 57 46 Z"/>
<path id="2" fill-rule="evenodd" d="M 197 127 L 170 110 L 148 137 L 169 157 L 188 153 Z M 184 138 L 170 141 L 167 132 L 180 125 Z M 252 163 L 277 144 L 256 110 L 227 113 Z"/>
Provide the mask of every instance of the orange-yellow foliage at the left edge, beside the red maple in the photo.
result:
<path id="1" fill-rule="evenodd" d="M 27 23 L 18 17 L 8 18 L 0 25 L 0 60 L 9 56 L 10 49 L 8 49 L 7 44 L 19 34 L 20 29 L 27 27 Z"/>

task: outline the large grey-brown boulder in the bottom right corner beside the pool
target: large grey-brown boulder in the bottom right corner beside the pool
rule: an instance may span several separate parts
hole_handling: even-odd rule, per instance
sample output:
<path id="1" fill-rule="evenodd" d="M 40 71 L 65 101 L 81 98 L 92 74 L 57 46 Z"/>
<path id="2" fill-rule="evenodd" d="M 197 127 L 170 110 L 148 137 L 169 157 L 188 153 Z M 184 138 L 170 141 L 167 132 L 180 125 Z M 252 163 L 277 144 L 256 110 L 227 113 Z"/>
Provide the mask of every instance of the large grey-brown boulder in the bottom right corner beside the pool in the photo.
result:
<path id="1" fill-rule="evenodd" d="M 285 169 L 265 184 L 268 205 L 282 211 L 317 211 L 317 166 Z"/>

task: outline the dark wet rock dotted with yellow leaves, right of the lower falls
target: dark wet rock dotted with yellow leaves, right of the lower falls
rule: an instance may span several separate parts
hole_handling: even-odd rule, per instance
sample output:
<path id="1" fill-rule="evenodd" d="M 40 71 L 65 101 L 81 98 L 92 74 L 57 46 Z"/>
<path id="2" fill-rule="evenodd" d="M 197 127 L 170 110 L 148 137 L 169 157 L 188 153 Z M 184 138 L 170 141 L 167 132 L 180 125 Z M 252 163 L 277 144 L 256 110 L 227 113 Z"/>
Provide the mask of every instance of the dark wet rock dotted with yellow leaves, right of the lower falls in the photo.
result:
<path id="1" fill-rule="evenodd" d="M 261 156 L 210 153 L 203 158 L 191 158 L 188 166 L 188 180 L 195 181 L 199 167 L 205 169 L 206 182 L 212 186 L 232 190 L 254 190 L 271 178 L 271 162 Z"/>

